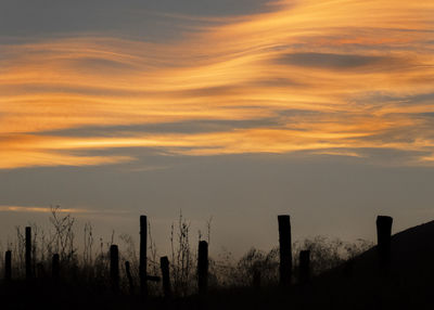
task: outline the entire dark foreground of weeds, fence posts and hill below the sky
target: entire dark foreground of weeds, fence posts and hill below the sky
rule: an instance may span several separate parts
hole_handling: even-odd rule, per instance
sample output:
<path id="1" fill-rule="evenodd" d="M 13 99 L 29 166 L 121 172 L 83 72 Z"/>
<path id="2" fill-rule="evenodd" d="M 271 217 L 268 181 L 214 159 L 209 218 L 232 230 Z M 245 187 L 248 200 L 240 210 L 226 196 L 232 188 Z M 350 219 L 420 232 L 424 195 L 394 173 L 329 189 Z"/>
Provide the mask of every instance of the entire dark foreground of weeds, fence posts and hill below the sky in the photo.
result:
<path id="1" fill-rule="evenodd" d="M 280 246 L 252 248 L 241 259 L 208 257 L 206 241 L 190 244 L 189 223 L 173 225 L 171 253 L 159 258 L 145 217 L 139 254 L 94 246 L 86 225 L 75 246 L 74 218 L 53 209 L 53 231 L 17 229 L 1 263 L 1 309 L 432 309 L 434 222 L 391 237 L 392 218 L 379 217 L 379 244 L 315 237 L 291 242 L 279 217 Z M 29 238 L 30 237 L 30 238 Z M 201 238 L 201 236 L 200 236 Z M 10 257 L 10 259 L 8 258 Z M 145 266 L 145 268 L 143 268 Z"/>

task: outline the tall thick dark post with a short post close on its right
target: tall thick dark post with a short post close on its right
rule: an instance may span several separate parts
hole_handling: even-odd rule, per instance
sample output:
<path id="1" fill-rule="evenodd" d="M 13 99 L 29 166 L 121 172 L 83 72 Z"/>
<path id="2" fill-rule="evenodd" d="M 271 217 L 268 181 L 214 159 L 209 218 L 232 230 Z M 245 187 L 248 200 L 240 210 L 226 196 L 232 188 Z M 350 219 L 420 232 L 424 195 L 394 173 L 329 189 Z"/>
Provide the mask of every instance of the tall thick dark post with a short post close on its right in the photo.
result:
<path id="1" fill-rule="evenodd" d="M 290 216 L 278 216 L 280 248 L 280 285 L 289 286 L 292 280 L 292 241 Z"/>

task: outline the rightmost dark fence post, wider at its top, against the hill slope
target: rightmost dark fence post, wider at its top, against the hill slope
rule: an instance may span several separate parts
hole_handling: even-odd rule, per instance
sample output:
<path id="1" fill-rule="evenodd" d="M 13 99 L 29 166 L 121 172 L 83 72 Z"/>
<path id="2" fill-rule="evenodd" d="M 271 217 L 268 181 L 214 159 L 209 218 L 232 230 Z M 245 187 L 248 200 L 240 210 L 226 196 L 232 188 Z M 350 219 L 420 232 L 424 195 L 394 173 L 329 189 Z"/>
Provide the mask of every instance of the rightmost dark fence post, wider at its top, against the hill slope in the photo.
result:
<path id="1" fill-rule="evenodd" d="M 392 223 L 393 218 L 391 217 L 376 217 L 379 267 L 383 271 L 387 271 L 391 264 Z"/>

